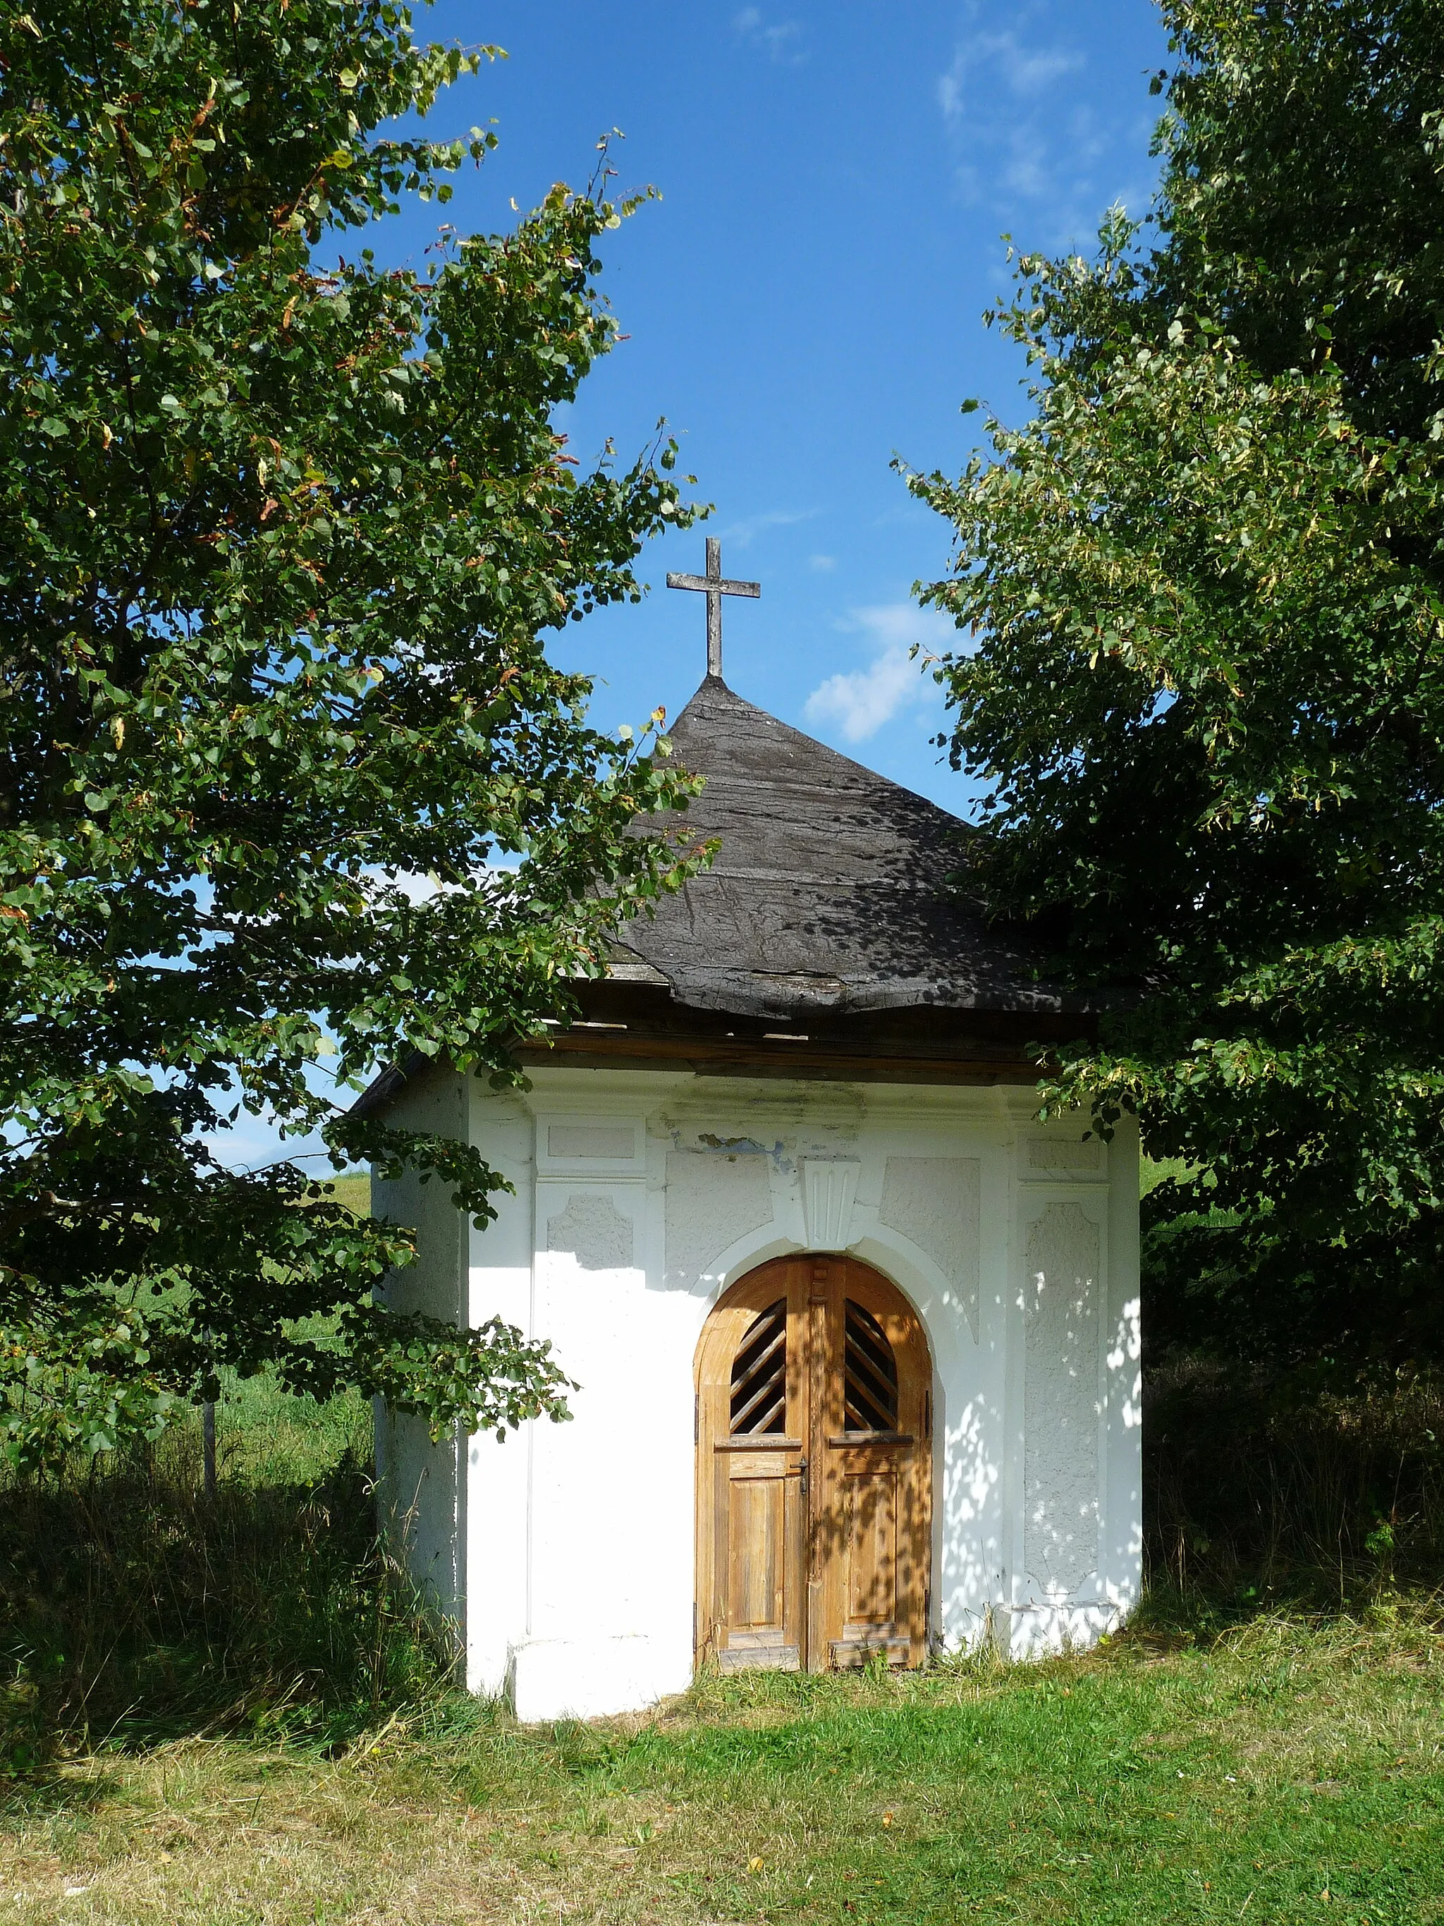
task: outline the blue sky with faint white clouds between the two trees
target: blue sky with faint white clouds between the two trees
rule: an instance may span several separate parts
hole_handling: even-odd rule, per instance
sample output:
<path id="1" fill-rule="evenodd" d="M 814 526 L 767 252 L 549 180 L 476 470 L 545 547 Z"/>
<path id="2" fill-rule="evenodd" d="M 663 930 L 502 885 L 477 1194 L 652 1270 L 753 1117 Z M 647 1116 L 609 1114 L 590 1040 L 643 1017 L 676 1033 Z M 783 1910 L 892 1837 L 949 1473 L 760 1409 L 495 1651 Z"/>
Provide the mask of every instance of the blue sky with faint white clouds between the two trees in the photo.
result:
<path id="1" fill-rule="evenodd" d="M 999 235 L 1088 250 L 1115 200 L 1146 210 L 1147 75 L 1167 64 L 1151 0 L 441 0 L 418 31 L 506 48 L 427 123 L 495 123 L 501 146 L 445 210 L 368 233 L 381 262 L 420 264 L 439 220 L 499 229 L 512 200 L 583 187 L 610 129 L 618 191 L 662 195 L 606 237 L 628 339 L 564 428 L 583 462 L 608 437 L 628 460 L 666 416 L 716 512 L 649 547 L 639 609 L 556 638 L 597 678 L 595 720 L 676 716 L 697 688 L 703 601 L 662 584 L 720 535 L 724 570 L 762 584 L 724 605 L 732 688 L 965 809 L 930 745 L 940 691 L 907 657 L 953 634 L 909 595 L 945 572 L 949 530 L 890 462 L 957 472 L 980 420 L 965 397 L 1026 414 L 1020 358 L 982 325 L 1009 287 Z M 221 1144 L 231 1163 L 277 1150 L 245 1117 Z"/>

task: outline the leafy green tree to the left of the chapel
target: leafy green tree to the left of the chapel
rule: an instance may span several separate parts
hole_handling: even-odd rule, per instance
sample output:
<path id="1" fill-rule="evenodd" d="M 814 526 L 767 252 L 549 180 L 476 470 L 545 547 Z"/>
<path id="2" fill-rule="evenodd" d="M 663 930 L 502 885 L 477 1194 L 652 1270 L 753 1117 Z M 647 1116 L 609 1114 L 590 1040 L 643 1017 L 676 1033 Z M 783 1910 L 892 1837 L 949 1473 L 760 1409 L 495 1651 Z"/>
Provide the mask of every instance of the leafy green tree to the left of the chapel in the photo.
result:
<path id="1" fill-rule="evenodd" d="M 474 1152 L 347 1117 L 318 1059 L 343 1094 L 412 1052 L 514 1079 L 510 1042 L 685 867 L 628 834 L 687 794 L 664 743 L 587 728 L 587 682 L 543 649 L 637 599 L 643 537 L 689 514 L 668 443 L 581 472 L 553 428 L 616 337 L 595 245 L 635 200 L 556 187 L 425 272 L 345 250 L 481 160 L 491 135 L 395 123 L 487 52 L 416 42 L 389 0 L 48 0 L 0 25 L 21 1464 L 154 1435 L 223 1366 L 433 1425 L 564 1410 L 547 1346 L 372 1302 L 410 1233 L 212 1148 L 270 1111 L 485 1221 L 503 1181 Z"/>

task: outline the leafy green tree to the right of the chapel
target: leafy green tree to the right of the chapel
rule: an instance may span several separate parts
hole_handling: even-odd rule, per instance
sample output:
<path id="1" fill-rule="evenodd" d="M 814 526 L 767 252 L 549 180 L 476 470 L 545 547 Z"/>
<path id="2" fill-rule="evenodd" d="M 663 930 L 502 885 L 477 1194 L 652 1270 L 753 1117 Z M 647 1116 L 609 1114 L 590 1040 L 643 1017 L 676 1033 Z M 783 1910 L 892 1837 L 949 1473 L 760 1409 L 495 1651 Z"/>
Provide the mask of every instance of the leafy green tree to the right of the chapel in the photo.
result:
<path id="1" fill-rule="evenodd" d="M 911 485 L 963 888 L 1099 992 L 1047 1102 L 1192 1161 L 1151 1329 L 1444 1340 L 1444 15 L 1169 0 L 1157 239 L 1019 262 L 1036 416 Z"/>

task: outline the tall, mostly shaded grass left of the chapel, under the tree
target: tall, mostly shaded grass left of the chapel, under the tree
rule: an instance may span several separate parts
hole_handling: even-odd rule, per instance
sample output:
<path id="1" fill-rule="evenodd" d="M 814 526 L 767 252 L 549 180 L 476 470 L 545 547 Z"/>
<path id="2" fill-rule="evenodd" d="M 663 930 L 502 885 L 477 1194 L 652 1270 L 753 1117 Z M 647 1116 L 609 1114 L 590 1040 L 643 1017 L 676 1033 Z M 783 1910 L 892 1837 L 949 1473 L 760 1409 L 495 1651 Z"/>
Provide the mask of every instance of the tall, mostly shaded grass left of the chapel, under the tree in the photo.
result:
<path id="1" fill-rule="evenodd" d="M 343 1743 L 447 1679 L 377 1543 L 368 1414 L 308 1402 L 233 1392 L 214 1498 L 194 1421 L 0 1485 L 0 1770 L 218 1731 Z"/>

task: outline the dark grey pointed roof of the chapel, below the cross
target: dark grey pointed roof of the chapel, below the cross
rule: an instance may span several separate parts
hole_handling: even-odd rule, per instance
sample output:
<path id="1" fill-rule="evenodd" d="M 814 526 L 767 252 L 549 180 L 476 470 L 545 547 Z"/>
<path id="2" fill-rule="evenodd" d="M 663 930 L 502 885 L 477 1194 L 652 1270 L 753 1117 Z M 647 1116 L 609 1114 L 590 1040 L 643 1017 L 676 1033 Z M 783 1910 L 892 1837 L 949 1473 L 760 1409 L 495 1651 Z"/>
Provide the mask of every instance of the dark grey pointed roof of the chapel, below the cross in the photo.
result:
<path id="1" fill-rule="evenodd" d="M 680 1003 L 741 1015 L 1065 1005 L 1020 948 L 947 894 L 957 817 L 714 676 L 670 734 L 707 778 L 678 820 L 722 847 L 626 926 L 614 975 L 664 978 Z"/>

